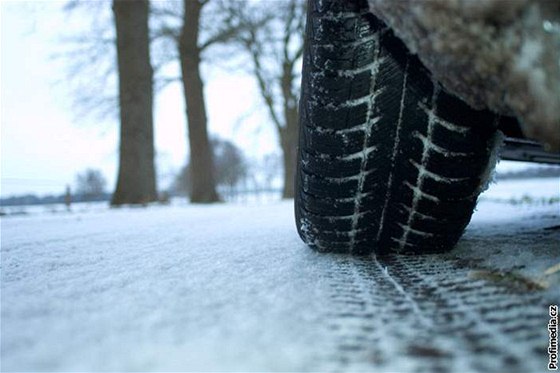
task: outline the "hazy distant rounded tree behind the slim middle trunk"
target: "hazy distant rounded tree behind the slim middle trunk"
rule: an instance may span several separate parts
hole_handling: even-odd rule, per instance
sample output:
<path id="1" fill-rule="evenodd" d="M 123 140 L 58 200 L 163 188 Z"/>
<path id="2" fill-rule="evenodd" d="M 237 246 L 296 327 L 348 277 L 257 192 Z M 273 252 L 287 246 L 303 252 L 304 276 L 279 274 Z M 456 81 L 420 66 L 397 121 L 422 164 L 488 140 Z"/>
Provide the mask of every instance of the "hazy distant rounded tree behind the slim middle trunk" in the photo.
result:
<path id="1" fill-rule="evenodd" d="M 213 138 L 210 141 L 214 159 L 213 177 L 217 185 L 235 187 L 247 177 L 247 163 L 241 149 L 228 140 Z M 189 162 L 175 180 L 174 189 L 184 195 L 191 193 L 191 163 Z"/>

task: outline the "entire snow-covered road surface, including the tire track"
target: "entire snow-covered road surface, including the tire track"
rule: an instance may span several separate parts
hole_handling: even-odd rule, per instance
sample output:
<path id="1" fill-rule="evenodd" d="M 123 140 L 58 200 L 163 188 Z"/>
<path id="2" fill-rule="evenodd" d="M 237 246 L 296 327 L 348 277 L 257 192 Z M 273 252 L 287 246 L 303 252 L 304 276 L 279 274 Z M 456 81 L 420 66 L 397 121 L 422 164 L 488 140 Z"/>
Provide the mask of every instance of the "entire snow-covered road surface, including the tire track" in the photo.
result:
<path id="1" fill-rule="evenodd" d="M 2 370 L 544 372 L 558 180 L 494 188 L 440 256 L 317 254 L 291 202 L 4 217 Z"/>

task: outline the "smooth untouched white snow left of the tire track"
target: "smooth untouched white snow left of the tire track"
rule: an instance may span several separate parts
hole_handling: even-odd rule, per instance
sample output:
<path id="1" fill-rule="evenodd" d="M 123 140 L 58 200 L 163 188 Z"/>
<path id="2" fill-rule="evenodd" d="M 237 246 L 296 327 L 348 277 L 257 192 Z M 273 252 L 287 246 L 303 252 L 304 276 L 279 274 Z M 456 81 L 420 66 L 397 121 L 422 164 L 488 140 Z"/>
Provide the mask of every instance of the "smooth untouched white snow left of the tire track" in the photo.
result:
<path id="1" fill-rule="evenodd" d="M 3 219 L 3 369 L 293 369 L 318 284 L 289 205 Z"/>

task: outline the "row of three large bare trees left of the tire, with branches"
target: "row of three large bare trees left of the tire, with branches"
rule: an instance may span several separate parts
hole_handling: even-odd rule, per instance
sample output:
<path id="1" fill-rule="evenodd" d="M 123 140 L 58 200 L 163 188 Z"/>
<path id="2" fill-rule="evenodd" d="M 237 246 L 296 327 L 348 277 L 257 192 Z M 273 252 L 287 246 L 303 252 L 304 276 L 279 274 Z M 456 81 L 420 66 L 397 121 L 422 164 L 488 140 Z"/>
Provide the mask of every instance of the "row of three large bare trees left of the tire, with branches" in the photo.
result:
<path id="1" fill-rule="evenodd" d="M 68 8 L 90 3 L 75 0 Z M 153 103 L 158 89 L 173 80 L 160 72 L 174 61 L 180 65 L 177 78 L 183 87 L 190 149 L 183 170 L 186 190 L 193 203 L 221 200 L 215 170 L 223 166 L 216 164 L 213 145 L 217 144 L 208 133 L 201 72 L 203 63 L 211 63 L 209 51 L 216 53 L 219 48 L 242 56 L 250 66 L 283 154 L 282 197 L 293 197 L 305 1 L 112 0 L 101 6 L 109 5 L 120 122 L 118 177 L 111 204 L 145 204 L 158 198 Z M 156 43 L 166 47 L 154 59 Z"/>

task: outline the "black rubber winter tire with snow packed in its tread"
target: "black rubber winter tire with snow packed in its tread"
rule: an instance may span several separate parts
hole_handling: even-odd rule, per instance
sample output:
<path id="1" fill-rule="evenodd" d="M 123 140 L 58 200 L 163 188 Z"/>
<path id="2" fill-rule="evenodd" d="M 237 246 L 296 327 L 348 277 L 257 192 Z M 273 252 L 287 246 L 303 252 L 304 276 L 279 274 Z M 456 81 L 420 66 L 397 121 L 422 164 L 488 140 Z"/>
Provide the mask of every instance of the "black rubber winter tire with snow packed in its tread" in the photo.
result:
<path id="1" fill-rule="evenodd" d="M 295 212 L 323 252 L 441 252 L 492 168 L 496 116 L 447 94 L 367 1 L 309 3 Z"/>

